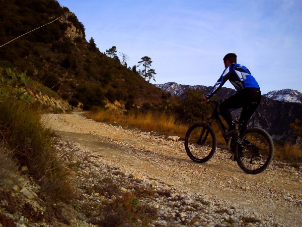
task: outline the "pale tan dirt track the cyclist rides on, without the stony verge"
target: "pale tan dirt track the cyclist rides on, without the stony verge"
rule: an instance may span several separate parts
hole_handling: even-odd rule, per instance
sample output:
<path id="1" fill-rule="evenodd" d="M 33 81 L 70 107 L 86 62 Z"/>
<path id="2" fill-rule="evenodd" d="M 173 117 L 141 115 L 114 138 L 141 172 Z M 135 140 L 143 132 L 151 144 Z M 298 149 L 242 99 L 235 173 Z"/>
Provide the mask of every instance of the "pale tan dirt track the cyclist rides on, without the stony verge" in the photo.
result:
<path id="1" fill-rule="evenodd" d="M 232 206 L 252 208 L 260 216 L 302 226 L 300 169 L 273 162 L 265 172 L 248 175 L 224 150 L 218 149 L 210 161 L 200 164 L 186 155 L 183 141 L 97 123 L 77 112 L 47 118 L 62 140 L 80 143 L 91 155 L 127 173 L 160 179 Z"/>

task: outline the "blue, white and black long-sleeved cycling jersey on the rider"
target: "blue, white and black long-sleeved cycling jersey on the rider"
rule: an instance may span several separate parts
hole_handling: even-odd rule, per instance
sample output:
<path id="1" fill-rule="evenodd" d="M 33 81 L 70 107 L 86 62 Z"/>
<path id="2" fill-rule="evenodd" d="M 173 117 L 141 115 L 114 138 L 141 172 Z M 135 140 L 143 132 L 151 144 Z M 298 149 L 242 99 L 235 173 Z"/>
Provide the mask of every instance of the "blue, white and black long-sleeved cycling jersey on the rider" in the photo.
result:
<path id="1" fill-rule="evenodd" d="M 234 63 L 225 68 L 220 78 L 205 97 L 212 97 L 228 80 L 233 84 L 237 92 L 248 87 L 260 88 L 251 72 L 245 66 Z"/>

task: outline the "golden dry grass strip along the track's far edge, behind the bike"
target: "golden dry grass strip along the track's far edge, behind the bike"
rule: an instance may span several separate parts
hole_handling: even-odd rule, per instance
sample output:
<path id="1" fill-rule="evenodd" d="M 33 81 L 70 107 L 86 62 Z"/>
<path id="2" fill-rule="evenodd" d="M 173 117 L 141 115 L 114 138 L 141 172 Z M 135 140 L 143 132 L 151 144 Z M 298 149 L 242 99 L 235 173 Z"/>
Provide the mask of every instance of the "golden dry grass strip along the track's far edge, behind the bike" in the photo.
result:
<path id="1" fill-rule="evenodd" d="M 119 125 L 130 128 L 138 128 L 147 132 L 157 132 L 164 135 L 174 135 L 184 138 L 189 125 L 177 122 L 174 115 L 162 113 L 116 113 L 110 110 L 98 110 L 95 112 L 87 112 L 86 117 L 95 121 L 113 124 L 116 122 Z M 217 145 L 224 146 L 225 142 L 216 124 L 212 125 L 216 134 Z M 277 144 L 277 143 L 276 143 Z M 292 165 L 297 165 L 302 161 L 302 146 L 301 144 L 291 144 L 285 142 L 275 145 L 275 159 L 280 161 L 290 162 Z"/>

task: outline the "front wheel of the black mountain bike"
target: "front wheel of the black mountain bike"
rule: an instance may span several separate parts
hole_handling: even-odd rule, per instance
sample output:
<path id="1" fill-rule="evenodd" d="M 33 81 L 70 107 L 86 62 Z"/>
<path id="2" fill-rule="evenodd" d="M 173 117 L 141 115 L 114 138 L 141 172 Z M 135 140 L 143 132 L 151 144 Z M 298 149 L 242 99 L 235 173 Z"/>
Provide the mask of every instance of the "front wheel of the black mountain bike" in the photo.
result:
<path id="1" fill-rule="evenodd" d="M 209 125 L 196 123 L 185 136 L 185 148 L 188 156 L 196 162 L 206 162 L 215 153 L 216 137 Z"/>

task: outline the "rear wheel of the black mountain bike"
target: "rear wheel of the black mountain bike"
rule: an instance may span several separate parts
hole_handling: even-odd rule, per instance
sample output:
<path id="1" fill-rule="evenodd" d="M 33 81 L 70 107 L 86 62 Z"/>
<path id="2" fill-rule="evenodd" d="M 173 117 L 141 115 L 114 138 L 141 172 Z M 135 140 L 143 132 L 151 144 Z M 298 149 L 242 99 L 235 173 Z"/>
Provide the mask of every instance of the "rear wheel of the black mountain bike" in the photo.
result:
<path id="1" fill-rule="evenodd" d="M 241 136 L 242 144 L 237 145 L 236 160 L 239 167 L 248 174 L 259 174 L 271 163 L 274 144 L 263 129 L 248 129 Z"/>

